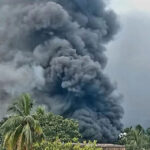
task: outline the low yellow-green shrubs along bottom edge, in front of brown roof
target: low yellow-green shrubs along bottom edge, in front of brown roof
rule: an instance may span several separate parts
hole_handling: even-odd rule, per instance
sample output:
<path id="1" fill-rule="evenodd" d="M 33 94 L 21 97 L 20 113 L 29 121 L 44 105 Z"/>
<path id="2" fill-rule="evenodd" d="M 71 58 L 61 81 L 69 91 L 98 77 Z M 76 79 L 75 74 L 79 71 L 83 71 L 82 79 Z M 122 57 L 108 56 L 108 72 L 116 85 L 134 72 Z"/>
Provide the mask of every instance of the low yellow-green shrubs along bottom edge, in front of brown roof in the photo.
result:
<path id="1" fill-rule="evenodd" d="M 73 144 L 71 142 L 61 143 L 59 140 L 55 142 L 43 141 L 41 143 L 36 143 L 33 147 L 34 150 L 102 150 L 101 148 L 96 148 L 96 142 L 94 141 L 86 143 L 81 146 L 80 143 Z"/>

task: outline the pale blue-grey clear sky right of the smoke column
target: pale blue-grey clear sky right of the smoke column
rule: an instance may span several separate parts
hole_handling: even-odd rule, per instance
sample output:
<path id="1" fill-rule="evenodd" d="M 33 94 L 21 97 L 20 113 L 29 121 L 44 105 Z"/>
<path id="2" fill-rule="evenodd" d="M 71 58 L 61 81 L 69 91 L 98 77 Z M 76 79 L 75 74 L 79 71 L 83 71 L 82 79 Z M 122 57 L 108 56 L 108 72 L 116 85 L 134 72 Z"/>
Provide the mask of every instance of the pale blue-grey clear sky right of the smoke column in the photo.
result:
<path id="1" fill-rule="evenodd" d="M 123 94 L 123 123 L 150 127 L 150 0 L 111 0 L 120 31 L 107 45 L 107 74 Z"/>

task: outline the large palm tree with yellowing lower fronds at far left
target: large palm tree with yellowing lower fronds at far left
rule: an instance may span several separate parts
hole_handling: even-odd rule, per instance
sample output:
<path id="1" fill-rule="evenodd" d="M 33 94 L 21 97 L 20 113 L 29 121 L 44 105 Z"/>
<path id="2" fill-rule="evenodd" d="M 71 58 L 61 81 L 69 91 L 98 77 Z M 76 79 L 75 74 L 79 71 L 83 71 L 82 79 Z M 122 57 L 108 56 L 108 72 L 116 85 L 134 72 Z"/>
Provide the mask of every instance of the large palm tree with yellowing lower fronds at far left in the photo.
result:
<path id="1" fill-rule="evenodd" d="M 23 94 L 9 108 L 10 117 L 0 130 L 4 135 L 3 147 L 7 150 L 32 150 L 35 137 L 42 137 L 42 128 L 31 114 L 33 100 Z"/>

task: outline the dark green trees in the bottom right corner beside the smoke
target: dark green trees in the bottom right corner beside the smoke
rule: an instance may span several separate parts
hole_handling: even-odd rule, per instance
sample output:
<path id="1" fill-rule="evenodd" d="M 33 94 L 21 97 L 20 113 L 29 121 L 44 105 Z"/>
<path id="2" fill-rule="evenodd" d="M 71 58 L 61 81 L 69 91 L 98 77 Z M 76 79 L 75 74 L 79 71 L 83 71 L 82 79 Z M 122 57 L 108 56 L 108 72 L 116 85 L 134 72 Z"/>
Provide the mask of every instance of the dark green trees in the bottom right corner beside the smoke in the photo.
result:
<path id="1" fill-rule="evenodd" d="M 119 139 L 119 144 L 126 145 L 126 150 L 149 150 L 150 136 L 148 131 L 145 131 L 140 125 L 135 128 L 126 128 L 125 135 Z"/>

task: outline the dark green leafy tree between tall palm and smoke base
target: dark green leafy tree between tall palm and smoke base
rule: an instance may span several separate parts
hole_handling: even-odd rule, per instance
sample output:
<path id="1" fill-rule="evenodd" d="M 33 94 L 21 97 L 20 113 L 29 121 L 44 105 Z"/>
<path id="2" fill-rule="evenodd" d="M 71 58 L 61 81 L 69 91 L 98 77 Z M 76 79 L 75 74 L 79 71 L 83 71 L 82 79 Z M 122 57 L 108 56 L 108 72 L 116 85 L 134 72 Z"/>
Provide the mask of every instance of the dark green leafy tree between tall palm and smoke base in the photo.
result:
<path id="1" fill-rule="evenodd" d="M 45 112 L 42 107 L 37 108 L 35 116 L 40 122 L 46 139 L 49 141 L 55 141 L 58 138 L 62 142 L 68 142 L 81 137 L 77 121 Z"/>

